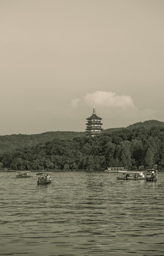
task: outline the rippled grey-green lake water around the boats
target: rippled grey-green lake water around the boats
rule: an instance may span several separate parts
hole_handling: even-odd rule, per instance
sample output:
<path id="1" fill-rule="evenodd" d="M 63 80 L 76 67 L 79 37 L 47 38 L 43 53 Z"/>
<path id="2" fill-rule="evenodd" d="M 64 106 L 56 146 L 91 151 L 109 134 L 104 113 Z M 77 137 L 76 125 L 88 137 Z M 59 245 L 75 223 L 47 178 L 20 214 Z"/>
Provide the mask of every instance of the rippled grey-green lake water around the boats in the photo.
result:
<path id="1" fill-rule="evenodd" d="M 58 171 L 42 186 L 31 174 L 0 173 L 0 255 L 164 255 L 164 173 Z"/>

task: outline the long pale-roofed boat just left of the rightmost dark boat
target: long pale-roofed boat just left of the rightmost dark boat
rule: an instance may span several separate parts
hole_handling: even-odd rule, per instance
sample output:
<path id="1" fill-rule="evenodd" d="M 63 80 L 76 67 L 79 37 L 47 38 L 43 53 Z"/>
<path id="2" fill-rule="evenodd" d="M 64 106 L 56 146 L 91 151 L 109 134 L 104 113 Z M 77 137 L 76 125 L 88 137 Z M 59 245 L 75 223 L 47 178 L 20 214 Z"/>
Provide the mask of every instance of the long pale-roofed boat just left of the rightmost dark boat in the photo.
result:
<path id="1" fill-rule="evenodd" d="M 121 176 L 117 176 L 117 180 L 141 181 L 145 180 L 143 171 L 118 171 Z"/>

